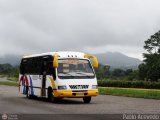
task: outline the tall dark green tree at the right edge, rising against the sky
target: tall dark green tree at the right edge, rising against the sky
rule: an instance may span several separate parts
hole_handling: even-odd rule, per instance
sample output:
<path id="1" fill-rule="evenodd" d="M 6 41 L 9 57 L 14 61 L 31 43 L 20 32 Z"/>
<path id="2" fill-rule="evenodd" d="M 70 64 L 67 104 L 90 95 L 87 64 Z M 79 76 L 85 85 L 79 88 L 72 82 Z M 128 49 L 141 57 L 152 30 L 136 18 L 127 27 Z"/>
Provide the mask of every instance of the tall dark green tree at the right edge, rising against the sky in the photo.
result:
<path id="1" fill-rule="evenodd" d="M 142 80 L 158 81 L 160 79 L 160 31 L 146 40 L 143 53 L 144 63 L 139 65 L 139 77 Z"/>

